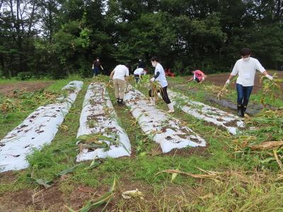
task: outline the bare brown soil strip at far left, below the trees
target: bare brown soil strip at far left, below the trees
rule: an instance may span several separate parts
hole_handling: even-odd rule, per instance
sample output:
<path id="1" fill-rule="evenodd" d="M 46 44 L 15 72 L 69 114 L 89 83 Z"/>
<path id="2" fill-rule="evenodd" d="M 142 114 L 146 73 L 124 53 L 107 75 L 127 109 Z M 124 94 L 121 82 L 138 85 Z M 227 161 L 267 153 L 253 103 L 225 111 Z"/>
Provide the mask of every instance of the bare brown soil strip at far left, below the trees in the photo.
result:
<path id="1" fill-rule="evenodd" d="M 14 90 L 25 90 L 25 91 L 35 91 L 42 88 L 46 88 L 52 84 L 52 81 L 48 82 L 18 82 L 12 84 L 0 84 L 0 94 L 6 96 L 13 96 Z"/>

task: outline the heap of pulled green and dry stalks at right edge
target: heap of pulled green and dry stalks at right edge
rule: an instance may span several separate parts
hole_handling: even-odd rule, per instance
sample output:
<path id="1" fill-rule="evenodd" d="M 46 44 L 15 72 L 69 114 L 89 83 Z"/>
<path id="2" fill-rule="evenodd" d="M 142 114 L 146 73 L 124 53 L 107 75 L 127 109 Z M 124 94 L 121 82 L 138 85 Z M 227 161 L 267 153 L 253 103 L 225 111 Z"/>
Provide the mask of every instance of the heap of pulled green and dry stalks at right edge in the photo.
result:
<path id="1" fill-rule="evenodd" d="M 248 130 L 229 143 L 236 157 L 260 169 L 283 170 L 283 108 L 262 110 L 246 124 Z"/>

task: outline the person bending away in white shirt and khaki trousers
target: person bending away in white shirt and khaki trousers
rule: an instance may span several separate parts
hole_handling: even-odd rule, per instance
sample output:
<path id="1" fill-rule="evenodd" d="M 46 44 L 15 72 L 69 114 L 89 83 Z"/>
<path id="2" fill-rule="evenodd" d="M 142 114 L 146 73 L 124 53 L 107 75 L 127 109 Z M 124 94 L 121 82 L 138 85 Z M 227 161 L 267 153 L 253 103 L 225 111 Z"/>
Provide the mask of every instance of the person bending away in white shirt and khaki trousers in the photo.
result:
<path id="1" fill-rule="evenodd" d="M 115 98 L 118 105 L 124 105 L 125 85 L 128 83 L 129 78 L 128 65 L 117 65 L 110 73 L 110 78 L 113 80 Z"/>

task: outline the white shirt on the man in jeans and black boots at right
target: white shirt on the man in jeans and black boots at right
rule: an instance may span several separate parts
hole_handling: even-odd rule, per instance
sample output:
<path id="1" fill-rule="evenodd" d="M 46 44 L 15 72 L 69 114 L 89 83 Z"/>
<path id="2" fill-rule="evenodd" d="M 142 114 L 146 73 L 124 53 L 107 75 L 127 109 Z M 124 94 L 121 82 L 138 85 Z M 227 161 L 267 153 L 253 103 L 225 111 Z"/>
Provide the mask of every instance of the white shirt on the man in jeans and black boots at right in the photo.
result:
<path id="1" fill-rule="evenodd" d="M 242 86 L 253 86 L 255 83 L 255 71 L 258 70 L 261 73 L 265 71 L 258 59 L 250 57 L 248 61 L 239 59 L 236 61 L 231 75 L 236 76 L 238 73 L 237 82 Z"/>

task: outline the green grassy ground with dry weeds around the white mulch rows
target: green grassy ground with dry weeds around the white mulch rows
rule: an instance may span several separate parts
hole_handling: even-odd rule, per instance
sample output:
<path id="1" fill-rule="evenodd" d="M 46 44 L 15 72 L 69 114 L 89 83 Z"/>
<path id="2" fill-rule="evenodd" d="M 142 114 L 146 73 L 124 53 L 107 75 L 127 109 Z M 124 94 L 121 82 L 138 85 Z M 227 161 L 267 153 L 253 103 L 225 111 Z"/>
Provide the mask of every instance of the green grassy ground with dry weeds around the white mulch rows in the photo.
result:
<path id="1" fill-rule="evenodd" d="M 83 89 L 59 127 L 52 144 L 28 156 L 28 169 L 0 174 L 0 211 L 79 210 L 88 200 L 98 199 L 108 192 L 114 179 L 115 192 L 105 207 L 106 211 L 283 210 L 282 146 L 254 148 L 265 141 L 282 141 L 282 108 L 264 109 L 253 117 L 246 117 L 247 129 L 237 136 L 231 136 L 224 129 L 177 109 L 173 117 L 200 134 L 207 141 L 207 147 L 185 148 L 163 154 L 158 145 L 144 135 L 129 109 L 115 103 L 113 88 L 108 84 L 108 93 L 119 122 L 131 141 L 131 157 L 100 160 L 98 167 L 91 169 L 88 168 L 91 161 L 80 163 L 73 172 L 60 176 L 59 172 L 76 165 L 75 158 L 79 149 L 75 139 L 88 84 L 98 80 L 108 83 L 108 78 L 102 76 L 96 79 L 72 76 L 52 82 L 45 90 L 18 92 L 12 97 L 0 95 L 0 139 L 38 106 L 52 102 L 62 93 L 61 88 L 74 79 L 84 81 Z M 9 81 L 4 83 L 8 84 Z M 187 91 L 182 90 L 181 93 L 207 104 L 211 103 L 205 100 L 205 94 L 216 95 L 214 90 L 221 89 L 211 83 L 202 86 L 187 84 L 182 77 L 171 78 L 170 83 L 183 84 Z M 180 91 L 175 86 L 171 88 Z M 190 89 L 197 93 L 190 93 Z M 145 88 L 140 90 L 147 95 Z M 251 103 L 260 103 L 261 97 L 260 92 L 256 93 L 251 98 Z M 221 98 L 235 101 L 236 93 L 233 88 L 229 88 Z M 283 107 L 282 100 L 272 101 L 267 98 L 267 101 L 272 106 Z M 213 106 L 227 110 L 219 105 Z M 162 101 L 158 101 L 158 107 L 166 110 Z M 161 172 L 163 170 L 180 170 L 195 174 L 195 177 L 185 174 L 176 176 Z M 42 185 L 31 182 L 30 175 L 34 179 L 52 181 L 52 187 L 44 189 Z M 144 199 L 122 198 L 122 192 L 134 189 L 139 189 L 144 194 Z M 104 206 L 105 204 L 92 211 L 101 211 Z"/>

